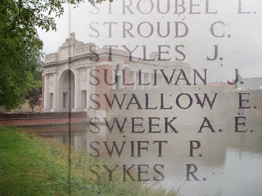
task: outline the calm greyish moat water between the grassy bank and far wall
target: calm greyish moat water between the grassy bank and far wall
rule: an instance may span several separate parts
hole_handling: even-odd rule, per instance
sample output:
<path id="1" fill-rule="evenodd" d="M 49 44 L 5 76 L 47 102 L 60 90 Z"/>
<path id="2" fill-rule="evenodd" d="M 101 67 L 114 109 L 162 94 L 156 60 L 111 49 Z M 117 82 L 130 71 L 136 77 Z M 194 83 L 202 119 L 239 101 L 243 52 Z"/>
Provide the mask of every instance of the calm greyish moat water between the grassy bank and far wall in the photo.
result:
<path id="1" fill-rule="evenodd" d="M 181 189 L 184 195 L 213 195 L 218 190 L 222 190 L 223 195 L 262 195 L 261 122 L 247 122 L 249 131 L 246 133 L 235 133 L 233 126 L 215 133 L 208 128 L 202 133 L 198 133 L 199 128 L 180 128 L 179 133 L 147 133 L 146 127 L 144 133 L 132 133 L 132 127 L 127 126 L 121 133 L 116 125 L 110 133 L 105 125 L 98 126 L 99 132 L 91 125 L 72 125 L 71 143 L 74 148 L 86 149 L 93 156 L 111 158 L 127 167 L 135 164 L 132 168 L 136 173 L 135 179 L 138 179 L 138 165 L 142 165 L 141 171 L 147 170 L 143 176 L 143 179 L 149 179 L 147 183 L 158 182 L 166 188 L 178 188 L 185 182 Z M 56 142 L 69 142 L 69 126 L 28 129 Z M 155 131 L 161 129 L 164 130 L 158 128 Z M 201 147 L 197 149 L 197 142 L 193 142 L 195 149 L 193 157 L 190 157 L 192 140 L 199 141 Z M 198 170 L 192 174 L 199 181 L 190 174 L 190 181 L 186 181 L 189 164 L 191 172 L 197 167 Z"/>

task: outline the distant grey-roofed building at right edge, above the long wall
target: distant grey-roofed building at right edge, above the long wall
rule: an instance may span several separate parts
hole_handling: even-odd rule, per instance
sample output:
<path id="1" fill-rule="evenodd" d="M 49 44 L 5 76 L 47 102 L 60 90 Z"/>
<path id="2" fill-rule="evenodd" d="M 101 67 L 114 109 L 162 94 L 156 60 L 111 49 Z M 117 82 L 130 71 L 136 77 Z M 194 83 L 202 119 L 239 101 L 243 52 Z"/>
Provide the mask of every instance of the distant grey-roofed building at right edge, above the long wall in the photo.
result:
<path id="1" fill-rule="evenodd" d="M 234 91 L 237 90 L 262 90 L 262 77 L 242 78 L 238 76 L 238 82 Z"/>

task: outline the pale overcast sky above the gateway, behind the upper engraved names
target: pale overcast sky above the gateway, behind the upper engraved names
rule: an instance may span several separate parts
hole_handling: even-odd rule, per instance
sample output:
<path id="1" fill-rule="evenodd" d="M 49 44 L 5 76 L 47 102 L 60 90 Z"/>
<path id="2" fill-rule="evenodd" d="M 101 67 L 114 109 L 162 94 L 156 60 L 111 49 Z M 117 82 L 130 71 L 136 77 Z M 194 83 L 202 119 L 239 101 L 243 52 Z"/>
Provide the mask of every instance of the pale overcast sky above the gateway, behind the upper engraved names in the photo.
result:
<path id="1" fill-rule="evenodd" d="M 176 8 L 176 4 L 182 6 Z M 133 53 L 137 57 L 143 57 L 143 48 L 149 58 L 149 53 L 158 52 L 158 45 L 164 45 L 163 59 L 183 60 L 200 72 L 206 68 L 207 82 L 231 81 L 235 69 L 243 78 L 262 77 L 260 0 L 185 0 L 184 4 L 183 0 L 114 0 L 111 5 L 103 2 L 94 7 L 85 2 L 72 7 L 71 13 L 69 6 L 64 10 L 56 18 L 56 32 L 38 31 L 46 54 L 57 52 L 70 32 L 75 32 L 77 40 L 99 48 L 137 47 Z M 213 23 L 217 37 L 210 30 Z M 215 47 L 216 60 L 207 60 L 207 56 L 214 58 Z"/>

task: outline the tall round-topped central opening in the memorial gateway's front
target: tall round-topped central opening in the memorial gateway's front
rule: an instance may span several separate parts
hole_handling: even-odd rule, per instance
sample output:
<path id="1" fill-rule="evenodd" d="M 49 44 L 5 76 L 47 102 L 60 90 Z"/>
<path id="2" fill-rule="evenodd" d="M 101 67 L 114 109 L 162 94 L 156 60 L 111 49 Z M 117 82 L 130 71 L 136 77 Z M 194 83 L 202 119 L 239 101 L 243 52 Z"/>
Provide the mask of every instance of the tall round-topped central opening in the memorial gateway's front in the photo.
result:
<path id="1" fill-rule="evenodd" d="M 64 70 L 58 83 L 58 111 L 70 112 L 74 108 L 75 75 L 70 69 Z"/>

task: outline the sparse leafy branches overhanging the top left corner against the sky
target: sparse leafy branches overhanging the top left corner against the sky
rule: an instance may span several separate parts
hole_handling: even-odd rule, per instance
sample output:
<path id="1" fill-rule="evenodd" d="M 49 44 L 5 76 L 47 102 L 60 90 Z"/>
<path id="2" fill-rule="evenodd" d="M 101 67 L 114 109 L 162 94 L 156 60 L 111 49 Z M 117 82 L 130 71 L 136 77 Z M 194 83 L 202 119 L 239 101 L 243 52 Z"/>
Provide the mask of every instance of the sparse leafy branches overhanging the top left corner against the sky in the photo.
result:
<path id="1" fill-rule="evenodd" d="M 20 27 L 30 34 L 35 34 L 35 26 L 49 31 L 56 30 L 56 23 L 54 17 L 60 17 L 63 12 L 64 4 L 72 4 L 77 7 L 83 0 L 0 0 L 1 16 L 9 12 L 14 17 L 12 18 L 12 25 Z M 88 0 L 91 4 L 101 4 L 105 0 Z M 113 2 L 113 0 L 110 0 Z M 74 7 L 74 8 L 75 8 Z"/>

